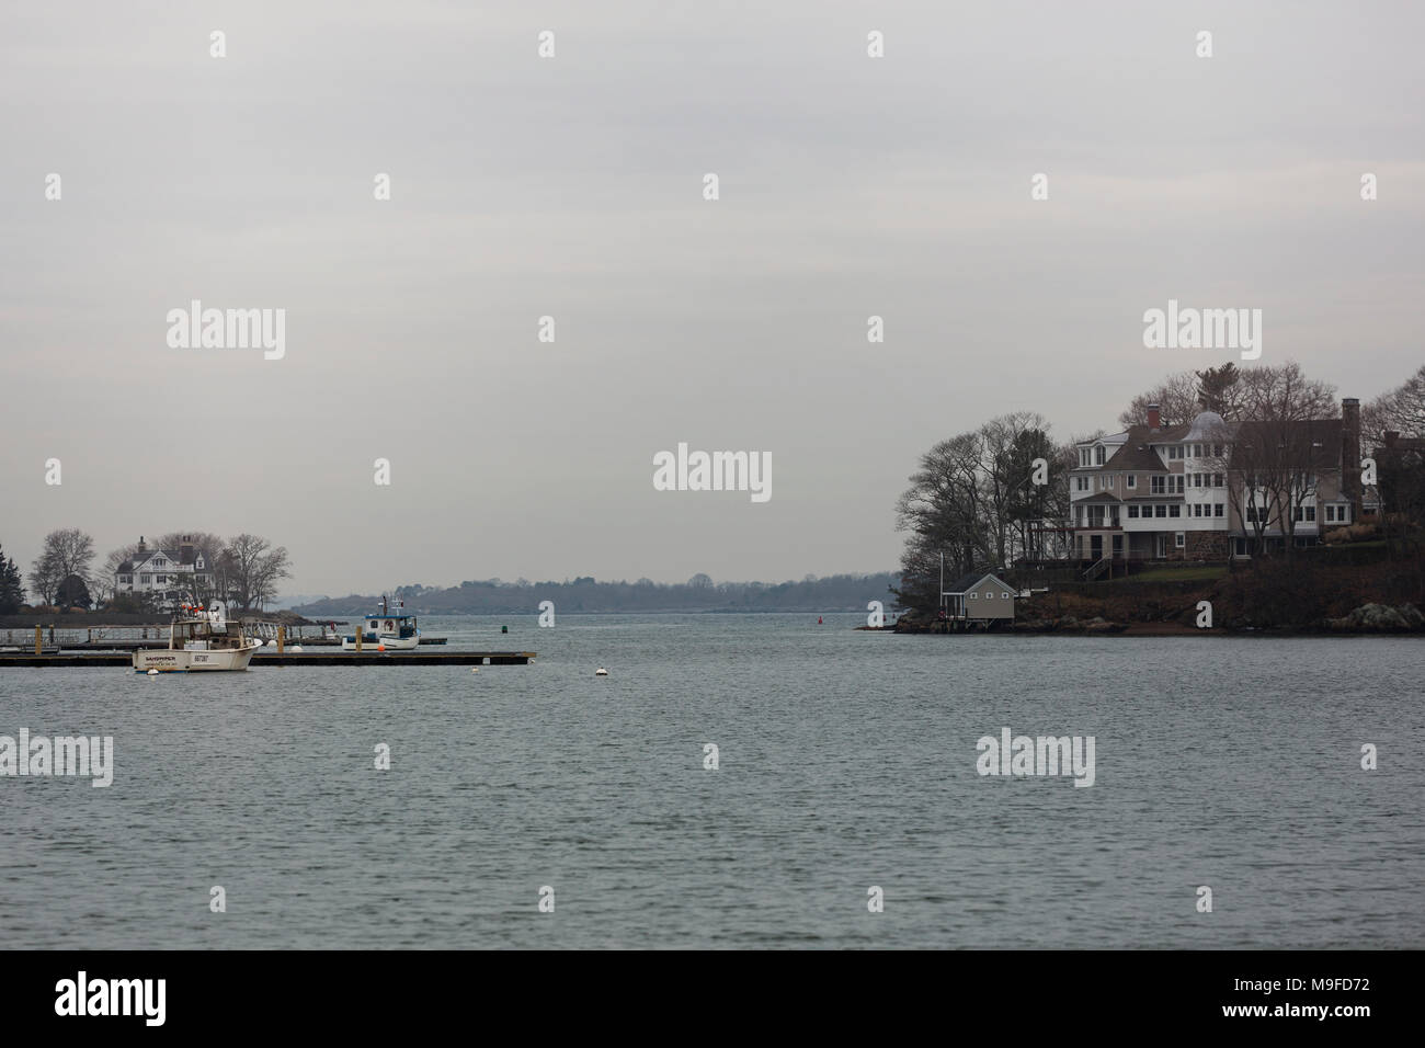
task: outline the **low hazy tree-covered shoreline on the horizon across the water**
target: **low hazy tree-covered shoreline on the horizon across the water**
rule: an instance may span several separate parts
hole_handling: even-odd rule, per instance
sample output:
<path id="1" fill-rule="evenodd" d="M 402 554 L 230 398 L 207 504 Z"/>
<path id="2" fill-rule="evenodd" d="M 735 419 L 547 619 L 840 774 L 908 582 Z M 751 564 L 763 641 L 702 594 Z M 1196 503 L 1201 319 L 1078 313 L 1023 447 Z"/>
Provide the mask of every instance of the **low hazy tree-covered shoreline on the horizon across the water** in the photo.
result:
<path id="1" fill-rule="evenodd" d="M 832 575 L 801 582 L 712 582 L 698 573 L 685 583 L 597 582 L 462 582 L 459 586 L 398 586 L 393 595 L 406 610 L 436 615 L 533 615 L 542 600 L 566 612 L 865 612 L 871 600 L 885 600 L 898 579 L 891 572 Z M 379 595 L 328 597 L 294 610 L 309 619 L 365 615 Z"/>

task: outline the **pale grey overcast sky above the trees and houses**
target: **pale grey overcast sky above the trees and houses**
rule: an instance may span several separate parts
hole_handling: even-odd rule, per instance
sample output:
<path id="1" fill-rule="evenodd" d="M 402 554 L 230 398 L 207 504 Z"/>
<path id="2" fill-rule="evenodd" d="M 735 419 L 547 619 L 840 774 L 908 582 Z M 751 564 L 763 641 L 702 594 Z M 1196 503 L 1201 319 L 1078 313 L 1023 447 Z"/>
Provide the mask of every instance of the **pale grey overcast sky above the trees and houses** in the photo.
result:
<path id="1" fill-rule="evenodd" d="M 6 4 L 0 543 L 251 530 L 299 593 L 882 570 L 936 439 L 1231 356 L 1144 348 L 1168 298 L 1372 398 L 1425 356 L 1422 10 Z M 285 358 L 170 348 L 194 298 L 285 309 Z M 771 500 L 654 490 L 678 442 Z"/>

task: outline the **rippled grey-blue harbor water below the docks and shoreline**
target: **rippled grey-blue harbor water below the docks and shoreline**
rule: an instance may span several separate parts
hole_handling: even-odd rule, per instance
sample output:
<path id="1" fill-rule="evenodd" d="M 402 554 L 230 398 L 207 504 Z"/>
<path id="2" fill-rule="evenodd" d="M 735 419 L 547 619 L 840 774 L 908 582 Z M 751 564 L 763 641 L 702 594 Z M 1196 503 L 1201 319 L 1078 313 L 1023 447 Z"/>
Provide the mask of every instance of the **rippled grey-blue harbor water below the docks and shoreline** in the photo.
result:
<path id="1" fill-rule="evenodd" d="M 1421 640 L 825 619 L 422 619 L 539 652 L 479 673 L 0 670 L 0 734 L 115 749 L 108 788 L 0 777 L 0 941 L 1425 947 Z M 1002 727 L 1094 736 L 1094 784 L 980 777 Z"/>

